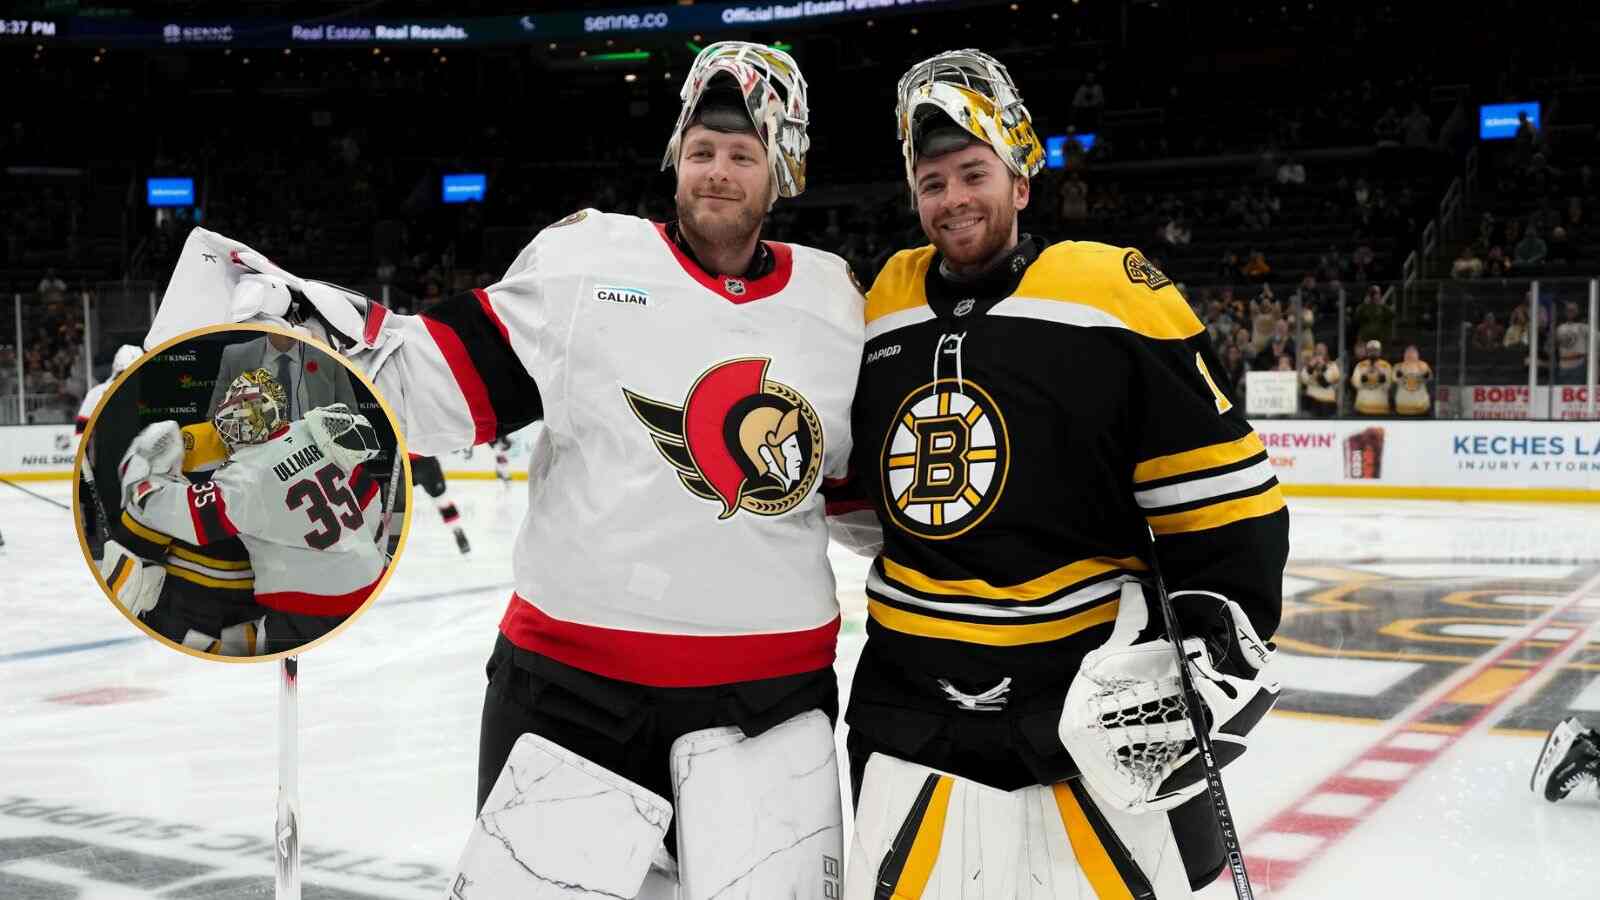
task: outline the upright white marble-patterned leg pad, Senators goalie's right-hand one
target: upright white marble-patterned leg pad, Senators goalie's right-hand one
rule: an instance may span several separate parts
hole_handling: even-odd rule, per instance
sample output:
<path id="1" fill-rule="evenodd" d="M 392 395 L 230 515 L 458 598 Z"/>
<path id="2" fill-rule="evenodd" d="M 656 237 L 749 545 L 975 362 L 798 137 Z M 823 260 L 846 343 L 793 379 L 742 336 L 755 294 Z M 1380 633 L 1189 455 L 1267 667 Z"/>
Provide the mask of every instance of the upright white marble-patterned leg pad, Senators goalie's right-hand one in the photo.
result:
<path id="1" fill-rule="evenodd" d="M 811 709 L 757 737 L 672 743 L 678 900 L 840 897 L 845 830 L 834 727 Z"/>

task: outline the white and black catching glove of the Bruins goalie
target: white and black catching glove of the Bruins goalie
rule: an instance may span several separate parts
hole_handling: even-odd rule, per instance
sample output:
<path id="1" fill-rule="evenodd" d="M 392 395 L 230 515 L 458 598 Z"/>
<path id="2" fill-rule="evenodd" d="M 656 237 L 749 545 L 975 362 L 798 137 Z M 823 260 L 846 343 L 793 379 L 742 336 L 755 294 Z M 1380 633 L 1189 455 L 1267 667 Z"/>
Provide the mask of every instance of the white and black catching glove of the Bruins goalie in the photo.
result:
<path id="1" fill-rule="evenodd" d="M 1200 623 L 1190 628 L 1197 636 L 1184 639 L 1184 658 L 1205 703 L 1216 764 L 1226 767 L 1278 700 L 1278 684 L 1261 679 L 1277 647 L 1221 594 L 1178 591 L 1171 601 L 1184 621 Z M 1206 781 L 1165 631 L 1160 617 L 1152 621 L 1144 589 L 1123 585 L 1112 636 L 1083 657 L 1061 713 L 1061 743 L 1083 780 L 1109 806 L 1134 814 L 1173 809 Z"/>

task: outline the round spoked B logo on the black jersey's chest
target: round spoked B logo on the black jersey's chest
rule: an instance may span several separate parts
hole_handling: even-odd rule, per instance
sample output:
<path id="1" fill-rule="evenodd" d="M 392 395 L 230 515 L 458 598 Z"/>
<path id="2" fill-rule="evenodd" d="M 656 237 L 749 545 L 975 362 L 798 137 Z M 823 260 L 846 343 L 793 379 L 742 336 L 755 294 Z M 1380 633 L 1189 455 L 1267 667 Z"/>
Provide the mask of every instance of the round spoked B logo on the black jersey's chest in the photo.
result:
<path id="1" fill-rule="evenodd" d="M 910 392 L 883 444 L 883 501 L 907 532 L 954 538 L 989 514 L 1011 461 L 1000 407 L 971 381 Z"/>

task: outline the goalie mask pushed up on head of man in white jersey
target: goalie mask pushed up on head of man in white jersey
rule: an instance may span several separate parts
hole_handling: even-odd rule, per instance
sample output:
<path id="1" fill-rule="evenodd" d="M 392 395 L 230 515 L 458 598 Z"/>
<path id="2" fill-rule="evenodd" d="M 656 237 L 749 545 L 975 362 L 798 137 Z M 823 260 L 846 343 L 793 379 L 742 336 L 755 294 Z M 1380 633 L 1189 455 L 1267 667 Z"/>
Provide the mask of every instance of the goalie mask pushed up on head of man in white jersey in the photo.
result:
<path id="1" fill-rule="evenodd" d="M 694 123 L 701 99 L 714 82 L 738 90 L 744 99 L 744 109 L 766 147 L 773 186 L 778 189 L 774 202 L 778 197 L 798 197 L 805 191 L 805 152 L 811 147 L 811 138 L 805 133 L 810 122 L 805 78 L 792 56 L 763 43 L 720 40 L 694 58 L 683 78 L 683 90 L 678 91 L 683 107 L 661 159 L 662 171 L 677 167 L 683 131 Z"/>

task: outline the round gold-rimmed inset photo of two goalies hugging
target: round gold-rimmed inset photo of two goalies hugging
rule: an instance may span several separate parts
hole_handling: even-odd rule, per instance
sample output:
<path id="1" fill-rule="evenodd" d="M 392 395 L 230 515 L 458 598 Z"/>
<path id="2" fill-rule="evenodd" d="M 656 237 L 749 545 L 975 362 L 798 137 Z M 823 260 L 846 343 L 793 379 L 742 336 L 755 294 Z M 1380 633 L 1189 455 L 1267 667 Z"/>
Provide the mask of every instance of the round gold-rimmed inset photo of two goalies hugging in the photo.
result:
<path id="1" fill-rule="evenodd" d="M 74 487 L 106 596 L 203 658 L 326 641 L 382 589 L 410 472 L 371 381 L 283 328 L 224 325 L 117 354 Z"/>

